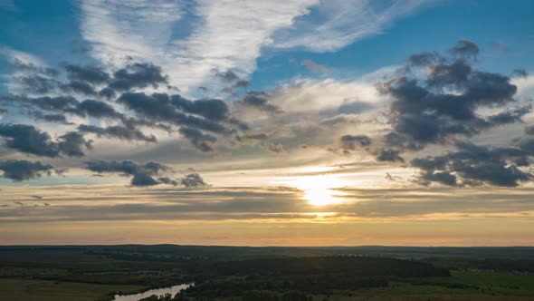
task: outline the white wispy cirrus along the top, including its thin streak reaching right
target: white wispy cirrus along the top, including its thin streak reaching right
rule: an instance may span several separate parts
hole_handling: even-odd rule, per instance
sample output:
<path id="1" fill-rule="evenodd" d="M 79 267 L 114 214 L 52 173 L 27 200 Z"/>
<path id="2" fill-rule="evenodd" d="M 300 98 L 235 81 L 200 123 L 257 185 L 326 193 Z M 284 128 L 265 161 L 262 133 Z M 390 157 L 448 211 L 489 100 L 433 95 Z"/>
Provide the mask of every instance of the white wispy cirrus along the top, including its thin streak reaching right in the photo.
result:
<path id="1" fill-rule="evenodd" d="M 380 34 L 397 17 L 427 2 L 84 1 L 81 28 L 93 44 L 91 54 L 103 63 L 113 66 L 126 57 L 153 62 L 183 92 L 201 86 L 219 92 L 221 87 L 213 88 L 217 71 L 233 70 L 246 79 L 256 69 L 263 48 L 338 50 Z M 177 28 L 183 27 L 179 23 L 190 28 Z"/>

